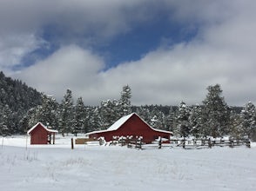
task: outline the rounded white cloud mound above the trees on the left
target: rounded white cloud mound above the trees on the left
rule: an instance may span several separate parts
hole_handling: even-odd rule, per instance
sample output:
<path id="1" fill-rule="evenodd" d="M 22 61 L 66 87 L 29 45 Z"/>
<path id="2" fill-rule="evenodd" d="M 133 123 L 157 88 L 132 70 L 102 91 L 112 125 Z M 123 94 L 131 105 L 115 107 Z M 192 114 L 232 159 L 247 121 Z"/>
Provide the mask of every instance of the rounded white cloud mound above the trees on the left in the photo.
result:
<path id="1" fill-rule="evenodd" d="M 58 49 L 53 55 L 22 70 L 17 77 L 30 86 L 46 94 L 55 94 L 60 99 L 66 89 L 74 94 L 84 95 L 91 102 L 97 95 L 98 72 L 103 69 L 103 61 L 91 51 L 76 45 Z M 92 89 L 92 90 L 90 90 Z M 87 93 L 88 92 L 88 93 Z"/>

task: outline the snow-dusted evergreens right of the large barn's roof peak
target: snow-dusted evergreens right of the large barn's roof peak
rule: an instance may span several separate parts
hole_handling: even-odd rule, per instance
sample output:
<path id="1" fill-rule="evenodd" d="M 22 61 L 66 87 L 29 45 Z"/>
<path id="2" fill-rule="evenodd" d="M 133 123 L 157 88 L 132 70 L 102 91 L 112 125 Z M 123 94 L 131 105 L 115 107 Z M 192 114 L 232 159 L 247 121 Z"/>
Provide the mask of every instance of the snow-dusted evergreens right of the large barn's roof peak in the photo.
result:
<path id="1" fill-rule="evenodd" d="M 253 102 L 244 107 L 226 104 L 219 84 L 207 87 L 201 104 L 188 106 L 184 101 L 178 106 L 142 106 L 133 110 L 153 128 L 170 130 L 177 137 L 249 138 L 256 141 L 256 109 Z"/>

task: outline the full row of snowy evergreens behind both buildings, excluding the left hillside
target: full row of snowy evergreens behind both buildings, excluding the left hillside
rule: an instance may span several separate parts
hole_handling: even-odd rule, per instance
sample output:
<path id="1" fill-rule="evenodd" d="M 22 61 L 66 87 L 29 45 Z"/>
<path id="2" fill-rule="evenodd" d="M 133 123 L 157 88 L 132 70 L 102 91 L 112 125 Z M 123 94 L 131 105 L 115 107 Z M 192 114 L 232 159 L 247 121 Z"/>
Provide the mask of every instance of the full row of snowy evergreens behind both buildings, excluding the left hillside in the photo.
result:
<path id="1" fill-rule="evenodd" d="M 188 106 L 131 106 L 131 88 L 123 87 L 118 100 L 102 101 L 99 106 L 85 106 L 82 97 L 74 104 L 67 89 L 60 104 L 53 97 L 44 95 L 42 105 L 30 109 L 28 127 L 36 122 L 51 124 L 61 133 L 87 133 L 108 128 L 120 117 L 136 112 L 153 128 L 169 130 L 175 136 L 235 138 L 256 136 L 256 109 L 252 102 L 242 109 L 229 107 L 222 96 L 219 84 L 209 86 L 202 104 Z"/>

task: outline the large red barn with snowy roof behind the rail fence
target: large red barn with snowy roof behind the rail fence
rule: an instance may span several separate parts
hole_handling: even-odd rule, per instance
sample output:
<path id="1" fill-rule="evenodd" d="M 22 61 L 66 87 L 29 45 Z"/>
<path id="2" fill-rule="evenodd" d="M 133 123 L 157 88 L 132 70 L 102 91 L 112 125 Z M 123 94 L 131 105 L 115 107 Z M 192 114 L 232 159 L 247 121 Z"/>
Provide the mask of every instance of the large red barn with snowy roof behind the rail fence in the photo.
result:
<path id="1" fill-rule="evenodd" d="M 142 136 L 143 142 L 151 143 L 158 139 L 159 136 L 170 141 L 172 132 L 152 128 L 142 118 L 140 118 L 140 116 L 136 113 L 132 113 L 120 118 L 106 130 L 93 131 L 86 135 L 89 135 L 89 138 L 93 139 L 104 137 L 106 142 L 113 140 L 113 136 Z"/>

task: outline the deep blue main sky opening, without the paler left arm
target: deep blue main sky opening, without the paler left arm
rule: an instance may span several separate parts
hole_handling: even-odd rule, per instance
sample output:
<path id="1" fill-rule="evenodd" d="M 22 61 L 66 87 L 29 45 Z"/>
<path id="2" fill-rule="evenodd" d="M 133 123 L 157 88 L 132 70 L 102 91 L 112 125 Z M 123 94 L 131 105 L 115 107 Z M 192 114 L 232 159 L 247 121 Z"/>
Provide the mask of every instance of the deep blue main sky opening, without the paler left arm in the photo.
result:
<path id="1" fill-rule="evenodd" d="M 172 23 L 163 16 L 152 23 L 141 24 L 130 32 L 120 35 L 103 47 L 96 47 L 106 56 L 107 66 L 137 61 L 159 46 L 172 47 L 176 43 L 189 42 L 196 35 L 196 29 L 184 32 L 185 26 Z"/>

